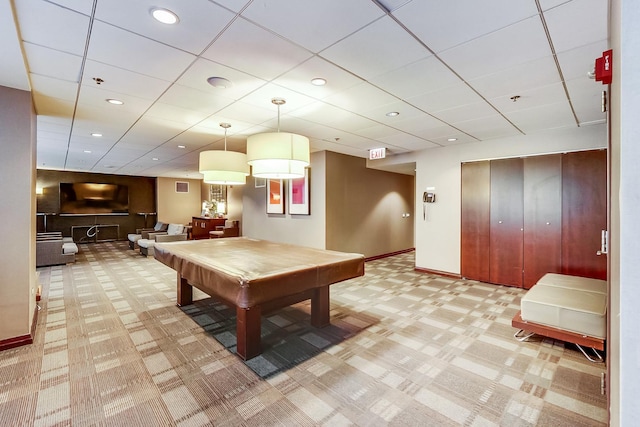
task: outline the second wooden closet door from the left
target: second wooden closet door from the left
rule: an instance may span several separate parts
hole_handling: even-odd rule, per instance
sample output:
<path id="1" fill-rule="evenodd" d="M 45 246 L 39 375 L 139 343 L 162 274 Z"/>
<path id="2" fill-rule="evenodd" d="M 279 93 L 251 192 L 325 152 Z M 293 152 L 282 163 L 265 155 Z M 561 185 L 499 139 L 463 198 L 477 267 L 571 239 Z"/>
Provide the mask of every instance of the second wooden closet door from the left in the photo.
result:
<path id="1" fill-rule="evenodd" d="M 490 282 L 522 287 L 523 160 L 491 161 Z"/>

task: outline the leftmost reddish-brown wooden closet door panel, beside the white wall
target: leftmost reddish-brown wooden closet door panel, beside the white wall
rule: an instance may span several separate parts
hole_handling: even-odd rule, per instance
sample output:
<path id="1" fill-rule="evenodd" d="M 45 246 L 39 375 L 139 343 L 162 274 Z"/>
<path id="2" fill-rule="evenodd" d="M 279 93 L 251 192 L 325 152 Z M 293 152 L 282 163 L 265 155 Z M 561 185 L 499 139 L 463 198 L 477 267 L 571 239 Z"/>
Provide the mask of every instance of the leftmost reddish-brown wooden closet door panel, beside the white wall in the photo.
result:
<path id="1" fill-rule="evenodd" d="M 463 163 L 460 273 L 467 279 L 489 281 L 489 161 Z"/>

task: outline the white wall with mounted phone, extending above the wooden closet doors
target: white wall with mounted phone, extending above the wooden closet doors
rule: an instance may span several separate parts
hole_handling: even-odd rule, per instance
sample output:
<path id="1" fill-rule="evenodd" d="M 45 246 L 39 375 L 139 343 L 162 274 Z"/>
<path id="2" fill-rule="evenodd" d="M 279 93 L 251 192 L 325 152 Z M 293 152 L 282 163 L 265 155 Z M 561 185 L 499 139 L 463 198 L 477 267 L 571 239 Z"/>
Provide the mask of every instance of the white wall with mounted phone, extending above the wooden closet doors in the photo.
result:
<path id="1" fill-rule="evenodd" d="M 416 267 L 460 273 L 462 162 L 604 148 L 606 144 L 606 126 L 601 124 L 421 151 L 416 158 Z M 422 193 L 427 187 L 435 187 L 436 203 L 427 204 L 424 219 Z"/>

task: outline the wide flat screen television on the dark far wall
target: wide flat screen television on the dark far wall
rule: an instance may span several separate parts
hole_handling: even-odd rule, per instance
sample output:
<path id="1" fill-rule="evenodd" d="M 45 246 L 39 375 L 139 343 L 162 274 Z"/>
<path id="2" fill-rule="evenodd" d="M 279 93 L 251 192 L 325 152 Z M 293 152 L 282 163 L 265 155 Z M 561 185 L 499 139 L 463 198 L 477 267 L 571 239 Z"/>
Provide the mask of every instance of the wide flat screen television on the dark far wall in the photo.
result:
<path id="1" fill-rule="evenodd" d="M 60 215 L 127 215 L 129 187 L 91 182 L 60 183 Z"/>

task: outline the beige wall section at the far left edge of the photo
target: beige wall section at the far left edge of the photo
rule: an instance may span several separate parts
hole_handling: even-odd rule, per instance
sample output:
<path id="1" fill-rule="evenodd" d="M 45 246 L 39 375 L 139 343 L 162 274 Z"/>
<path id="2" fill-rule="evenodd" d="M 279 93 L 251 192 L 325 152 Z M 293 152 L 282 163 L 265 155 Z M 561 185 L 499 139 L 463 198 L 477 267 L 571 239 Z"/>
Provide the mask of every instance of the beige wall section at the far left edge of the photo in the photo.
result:
<path id="1" fill-rule="evenodd" d="M 0 86 L 0 342 L 31 332 L 36 289 L 36 132 L 31 93 Z"/>

